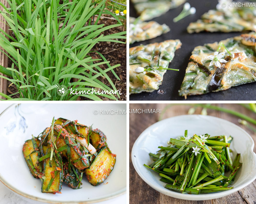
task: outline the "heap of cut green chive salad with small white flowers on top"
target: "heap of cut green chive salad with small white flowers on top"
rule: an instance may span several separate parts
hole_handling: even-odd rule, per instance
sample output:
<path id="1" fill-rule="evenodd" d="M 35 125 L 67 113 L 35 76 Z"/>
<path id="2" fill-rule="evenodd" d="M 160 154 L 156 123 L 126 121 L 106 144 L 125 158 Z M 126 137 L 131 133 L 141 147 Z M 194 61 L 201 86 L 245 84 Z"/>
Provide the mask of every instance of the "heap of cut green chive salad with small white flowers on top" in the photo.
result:
<path id="1" fill-rule="evenodd" d="M 145 167 L 156 171 L 165 188 L 180 193 L 202 194 L 230 190 L 241 168 L 240 154 L 232 161 L 229 149 L 232 137 L 208 134 L 170 138 L 167 147 L 150 153 L 154 162 Z M 225 176 L 225 175 L 226 176 Z"/>

